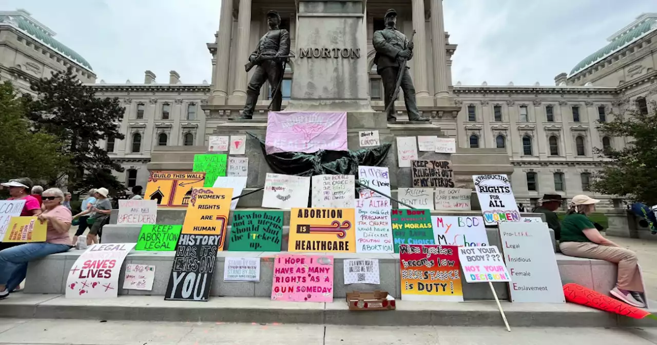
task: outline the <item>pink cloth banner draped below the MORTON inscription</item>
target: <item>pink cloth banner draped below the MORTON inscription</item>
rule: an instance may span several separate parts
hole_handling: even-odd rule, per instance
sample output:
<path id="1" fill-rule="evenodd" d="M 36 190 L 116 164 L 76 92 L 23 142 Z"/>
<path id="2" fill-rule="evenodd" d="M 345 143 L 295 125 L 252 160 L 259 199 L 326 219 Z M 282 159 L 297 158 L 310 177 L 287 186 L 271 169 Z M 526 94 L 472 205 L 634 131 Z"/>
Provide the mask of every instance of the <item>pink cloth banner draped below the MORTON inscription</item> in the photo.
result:
<path id="1" fill-rule="evenodd" d="M 269 112 L 267 154 L 347 150 L 346 112 Z"/>

